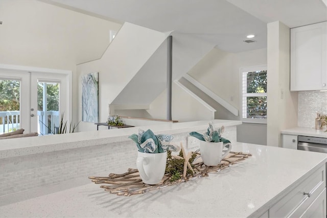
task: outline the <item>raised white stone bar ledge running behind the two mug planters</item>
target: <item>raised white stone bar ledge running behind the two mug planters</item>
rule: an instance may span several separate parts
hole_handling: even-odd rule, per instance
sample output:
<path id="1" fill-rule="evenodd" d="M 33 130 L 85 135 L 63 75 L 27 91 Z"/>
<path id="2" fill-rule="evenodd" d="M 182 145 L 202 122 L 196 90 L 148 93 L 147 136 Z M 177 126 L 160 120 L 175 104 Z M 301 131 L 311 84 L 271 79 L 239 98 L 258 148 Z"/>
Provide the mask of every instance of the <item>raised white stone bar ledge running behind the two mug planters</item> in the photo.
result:
<path id="1" fill-rule="evenodd" d="M 72 134 L 60 134 L 38 137 L 26 137 L 0 140 L 0 160 L 22 155 L 42 154 L 44 152 L 66 150 L 87 146 L 97 146 L 115 142 L 129 141 L 128 136 L 137 134 L 138 129 L 151 129 L 155 134 L 179 134 L 195 130 L 205 130 L 208 123 L 213 121 L 215 127 L 224 125 L 235 126 L 242 124 L 238 120 L 206 120 L 178 123 L 164 123 L 153 126 L 136 126 L 119 129 L 95 130 Z"/>

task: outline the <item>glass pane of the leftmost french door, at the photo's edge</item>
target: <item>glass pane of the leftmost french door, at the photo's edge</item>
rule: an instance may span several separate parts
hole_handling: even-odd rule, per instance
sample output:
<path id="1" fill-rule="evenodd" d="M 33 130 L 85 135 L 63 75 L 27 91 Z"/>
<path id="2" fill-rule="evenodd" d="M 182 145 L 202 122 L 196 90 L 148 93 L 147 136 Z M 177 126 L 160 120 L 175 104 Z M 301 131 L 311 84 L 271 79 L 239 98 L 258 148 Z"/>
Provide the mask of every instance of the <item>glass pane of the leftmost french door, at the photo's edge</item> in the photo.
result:
<path id="1" fill-rule="evenodd" d="M 20 81 L 0 79 L 0 134 L 19 129 Z"/>

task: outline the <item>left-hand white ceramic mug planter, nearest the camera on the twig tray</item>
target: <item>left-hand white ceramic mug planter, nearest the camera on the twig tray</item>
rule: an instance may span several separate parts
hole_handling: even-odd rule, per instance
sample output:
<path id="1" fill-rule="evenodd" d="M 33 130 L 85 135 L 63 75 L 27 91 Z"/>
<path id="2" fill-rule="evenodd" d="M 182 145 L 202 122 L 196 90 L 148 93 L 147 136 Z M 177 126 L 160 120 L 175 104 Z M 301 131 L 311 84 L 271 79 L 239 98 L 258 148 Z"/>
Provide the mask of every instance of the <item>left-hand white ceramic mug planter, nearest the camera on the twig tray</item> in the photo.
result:
<path id="1" fill-rule="evenodd" d="M 167 152 L 143 153 L 137 151 L 136 166 L 142 181 L 149 185 L 159 183 L 165 175 Z"/>

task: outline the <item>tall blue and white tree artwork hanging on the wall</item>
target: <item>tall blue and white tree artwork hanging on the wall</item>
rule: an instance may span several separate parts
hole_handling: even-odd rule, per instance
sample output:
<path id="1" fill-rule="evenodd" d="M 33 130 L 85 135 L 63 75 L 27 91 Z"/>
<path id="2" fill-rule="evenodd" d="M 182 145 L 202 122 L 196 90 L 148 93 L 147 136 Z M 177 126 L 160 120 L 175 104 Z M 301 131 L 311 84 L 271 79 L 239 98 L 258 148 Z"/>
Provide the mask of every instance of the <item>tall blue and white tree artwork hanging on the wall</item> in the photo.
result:
<path id="1" fill-rule="evenodd" d="M 99 73 L 82 76 L 82 121 L 99 122 Z"/>

